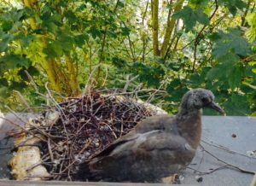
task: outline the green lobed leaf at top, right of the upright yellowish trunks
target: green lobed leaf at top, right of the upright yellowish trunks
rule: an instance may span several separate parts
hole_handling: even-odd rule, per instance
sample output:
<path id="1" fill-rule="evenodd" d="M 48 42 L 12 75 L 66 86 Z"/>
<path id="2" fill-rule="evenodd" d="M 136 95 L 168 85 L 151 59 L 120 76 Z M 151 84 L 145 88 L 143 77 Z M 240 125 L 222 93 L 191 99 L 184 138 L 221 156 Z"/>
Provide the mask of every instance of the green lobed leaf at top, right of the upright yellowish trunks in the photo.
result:
<path id="1" fill-rule="evenodd" d="M 209 24 L 209 19 L 202 9 L 193 10 L 189 6 L 183 7 L 183 9 L 172 15 L 172 17 L 184 21 L 186 32 L 194 28 L 196 21 L 203 25 Z"/>

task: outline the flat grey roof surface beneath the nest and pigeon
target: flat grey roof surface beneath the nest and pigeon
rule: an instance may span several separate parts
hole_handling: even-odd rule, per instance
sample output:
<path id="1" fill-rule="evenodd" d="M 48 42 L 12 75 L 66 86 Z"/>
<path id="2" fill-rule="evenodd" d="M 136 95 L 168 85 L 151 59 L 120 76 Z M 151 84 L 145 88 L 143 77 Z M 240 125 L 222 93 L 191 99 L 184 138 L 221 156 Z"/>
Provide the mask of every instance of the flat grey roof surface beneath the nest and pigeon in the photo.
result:
<path id="1" fill-rule="evenodd" d="M 241 116 L 203 116 L 203 132 L 201 148 L 197 149 L 194 160 L 181 177 L 182 184 L 189 185 L 221 185 L 244 186 L 250 185 L 253 174 L 244 171 L 256 171 L 256 155 L 250 152 L 256 151 L 256 118 Z M 7 122 L 0 123 L 0 130 L 8 128 Z M 1 140 L 1 139 L 0 139 Z M 9 177 L 7 163 L 10 158 L 9 147 L 12 139 L 0 141 L 0 178 Z M 226 166 L 230 164 L 231 166 Z M 196 170 L 196 171 L 195 171 Z M 201 171 L 199 173 L 198 171 Z M 198 182 L 195 177 L 201 177 Z M 6 184 L 0 182 L 0 185 Z M 15 185 L 14 182 L 10 182 Z M 33 182 L 32 185 L 35 183 Z M 40 183 L 41 184 L 41 183 Z M 48 182 L 47 185 L 106 185 L 107 183 L 68 183 Z M 19 185 L 27 185 L 20 183 Z M 113 185 L 109 183 L 107 185 Z M 114 185 L 136 185 L 135 183 L 115 183 Z M 137 185 L 162 185 L 146 183 Z"/>

